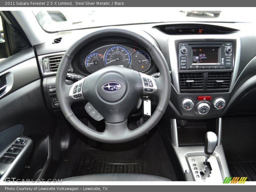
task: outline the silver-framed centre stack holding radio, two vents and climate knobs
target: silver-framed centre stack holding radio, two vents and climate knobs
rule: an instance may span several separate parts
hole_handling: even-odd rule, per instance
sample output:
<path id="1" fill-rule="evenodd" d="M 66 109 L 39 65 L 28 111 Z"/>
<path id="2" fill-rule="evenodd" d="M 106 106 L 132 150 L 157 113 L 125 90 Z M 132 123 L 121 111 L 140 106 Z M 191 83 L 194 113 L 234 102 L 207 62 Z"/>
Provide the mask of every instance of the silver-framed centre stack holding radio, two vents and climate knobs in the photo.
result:
<path id="1" fill-rule="evenodd" d="M 180 119 L 218 118 L 228 105 L 240 57 L 229 35 L 169 36 L 172 107 Z"/>

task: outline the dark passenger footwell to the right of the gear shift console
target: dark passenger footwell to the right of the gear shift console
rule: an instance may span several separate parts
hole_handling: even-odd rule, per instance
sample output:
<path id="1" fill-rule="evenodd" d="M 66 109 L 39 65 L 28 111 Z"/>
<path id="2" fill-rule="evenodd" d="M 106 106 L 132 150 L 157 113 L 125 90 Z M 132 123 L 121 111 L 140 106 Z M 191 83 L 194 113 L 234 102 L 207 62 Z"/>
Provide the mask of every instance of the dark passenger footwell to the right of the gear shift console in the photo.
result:
<path id="1" fill-rule="evenodd" d="M 256 117 L 224 118 L 222 145 L 232 177 L 256 181 Z"/>

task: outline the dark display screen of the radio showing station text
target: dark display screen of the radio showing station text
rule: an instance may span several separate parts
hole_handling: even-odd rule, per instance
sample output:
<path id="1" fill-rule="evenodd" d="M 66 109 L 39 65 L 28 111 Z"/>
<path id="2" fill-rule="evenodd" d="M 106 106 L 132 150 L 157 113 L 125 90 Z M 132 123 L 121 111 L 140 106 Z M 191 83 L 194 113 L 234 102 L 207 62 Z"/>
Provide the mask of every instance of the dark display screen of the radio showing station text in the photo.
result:
<path id="1" fill-rule="evenodd" d="M 218 47 L 192 47 L 193 64 L 219 64 Z"/>

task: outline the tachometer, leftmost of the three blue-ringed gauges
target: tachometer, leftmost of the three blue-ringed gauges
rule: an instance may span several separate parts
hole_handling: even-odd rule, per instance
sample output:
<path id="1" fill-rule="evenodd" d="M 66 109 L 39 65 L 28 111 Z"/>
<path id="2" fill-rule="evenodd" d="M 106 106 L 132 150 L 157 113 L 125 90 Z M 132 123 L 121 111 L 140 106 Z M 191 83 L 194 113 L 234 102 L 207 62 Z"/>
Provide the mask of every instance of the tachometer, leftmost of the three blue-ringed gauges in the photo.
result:
<path id="1" fill-rule="evenodd" d="M 106 67 L 103 61 L 103 57 L 104 56 L 98 52 L 89 54 L 85 59 L 85 67 L 87 70 L 93 73 L 101 68 Z"/>

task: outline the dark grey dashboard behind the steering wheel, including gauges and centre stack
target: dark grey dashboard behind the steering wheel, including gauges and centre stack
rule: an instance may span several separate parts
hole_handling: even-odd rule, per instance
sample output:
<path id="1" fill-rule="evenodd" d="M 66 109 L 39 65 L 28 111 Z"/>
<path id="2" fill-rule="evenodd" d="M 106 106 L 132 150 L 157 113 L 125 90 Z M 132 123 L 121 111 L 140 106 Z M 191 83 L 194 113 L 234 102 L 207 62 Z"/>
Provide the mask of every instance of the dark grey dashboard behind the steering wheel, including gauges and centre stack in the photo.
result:
<path id="1" fill-rule="evenodd" d="M 166 113 L 171 118 L 178 119 L 211 119 L 223 116 L 232 108 L 242 113 L 251 108 L 252 104 L 248 104 L 248 98 L 253 99 L 255 91 L 244 97 L 255 87 L 252 83 L 248 84 L 247 80 L 256 75 L 256 48 L 251 43 L 256 37 L 255 34 L 244 30 L 249 29 L 250 25 L 164 23 L 129 25 L 121 28 L 141 29 L 143 33 L 148 33 L 156 40 L 164 54 L 172 79 L 170 104 Z M 87 30 L 70 34 L 60 32 L 59 36 L 68 38 L 52 45 L 52 49 L 58 50 L 54 53 L 45 45 L 36 46 L 37 52 L 41 53 L 38 60 L 46 79 L 49 76 L 54 77 L 57 71 L 51 70 L 50 57 L 60 56 L 61 59 L 72 42 L 79 39 L 79 35 L 84 36 Z M 88 33 L 93 30 L 97 31 L 97 28 L 88 30 Z M 44 65 L 45 61 L 48 72 Z M 130 68 L 148 75 L 158 73 L 158 68 L 147 50 L 125 37 L 107 37 L 84 45 L 74 57 L 70 73 L 88 76 L 111 65 Z M 45 87 L 48 91 L 49 86 Z M 51 87 L 54 87 L 53 83 Z M 238 102 L 242 102 L 243 105 L 236 105 Z"/>

